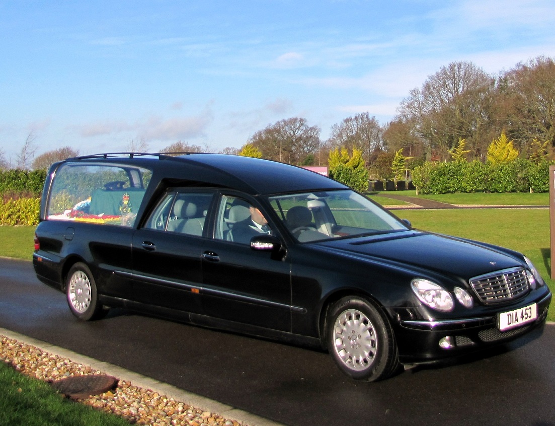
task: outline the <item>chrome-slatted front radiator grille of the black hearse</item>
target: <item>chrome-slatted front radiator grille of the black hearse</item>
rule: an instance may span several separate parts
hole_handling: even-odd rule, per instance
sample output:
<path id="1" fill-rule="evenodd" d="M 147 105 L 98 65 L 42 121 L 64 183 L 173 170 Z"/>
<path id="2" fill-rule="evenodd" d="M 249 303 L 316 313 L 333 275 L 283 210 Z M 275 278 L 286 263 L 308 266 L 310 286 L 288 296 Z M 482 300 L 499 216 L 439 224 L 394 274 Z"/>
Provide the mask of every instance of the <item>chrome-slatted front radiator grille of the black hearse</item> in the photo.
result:
<path id="1" fill-rule="evenodd" d="M 492 304 L 516 299 L 528 292 L 526 272 L 522 268 L 499 270 L 472 278 L 470 285 L 482 303 Z"/>

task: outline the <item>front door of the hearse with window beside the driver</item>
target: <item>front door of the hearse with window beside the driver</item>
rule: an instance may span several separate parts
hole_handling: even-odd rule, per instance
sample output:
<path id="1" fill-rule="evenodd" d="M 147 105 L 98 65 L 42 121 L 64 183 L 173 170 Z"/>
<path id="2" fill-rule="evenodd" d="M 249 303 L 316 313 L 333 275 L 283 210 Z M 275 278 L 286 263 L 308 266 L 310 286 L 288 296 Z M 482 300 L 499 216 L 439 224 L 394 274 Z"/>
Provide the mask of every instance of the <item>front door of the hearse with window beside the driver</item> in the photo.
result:
<path id="1" fill-rule="evenodd" d="M 264 224 L 258 223 L 259 228 L 251 223 L 253 217 L 263 222 L 259 214 L 264 212 L 257 207 L 238 197 L 221 196 L 214 239 L 206 239 L 202 249 L 204 312 L 211 317 L 290 332 L 290 260 L 251 249 L 244 230 L 239 241 L 234 240 L 234 228 L 238 231 L 248 226 L 253 235 L 268 232 L 263 230 Z"/>

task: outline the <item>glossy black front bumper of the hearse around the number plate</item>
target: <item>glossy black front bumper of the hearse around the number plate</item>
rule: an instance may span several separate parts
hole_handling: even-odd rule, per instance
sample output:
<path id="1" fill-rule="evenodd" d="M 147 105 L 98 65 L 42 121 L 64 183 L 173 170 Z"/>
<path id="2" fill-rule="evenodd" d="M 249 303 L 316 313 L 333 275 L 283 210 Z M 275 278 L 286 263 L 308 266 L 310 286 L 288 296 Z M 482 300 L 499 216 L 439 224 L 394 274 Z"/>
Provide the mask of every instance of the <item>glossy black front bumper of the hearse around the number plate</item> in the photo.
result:
<path id="1" fill-rule="evenodd" d="M 499 311 L 460 319 L 399 319 L 393 324 L 399 360 L 403 364 L 432 362 L 509 342 L 545 323 L 551 297 L 547 291 L 537 300 L 526 300 L 522 306 L 537 303 L 537 319 L 504 332 L 497 328 Z"/>

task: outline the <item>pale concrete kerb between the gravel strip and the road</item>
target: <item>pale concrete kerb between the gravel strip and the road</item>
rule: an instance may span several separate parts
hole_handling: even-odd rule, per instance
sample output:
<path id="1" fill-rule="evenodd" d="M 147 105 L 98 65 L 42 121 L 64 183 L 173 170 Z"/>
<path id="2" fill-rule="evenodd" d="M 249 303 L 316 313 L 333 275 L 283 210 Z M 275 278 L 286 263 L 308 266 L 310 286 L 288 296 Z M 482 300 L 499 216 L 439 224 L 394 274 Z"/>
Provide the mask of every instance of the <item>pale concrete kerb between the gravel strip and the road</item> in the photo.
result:
<path id="1" fill-rule="evenodd" d="M 249 426 L 283 426 L 281 423 L 276 423 L 273 420 L 265 419 L 264 417 L 231 407 L 231 405 L 222 404 L 209 398 L 202 397 L 201 395 L 187 392 L 186 390 L 160 382 L 159 380 L 151 377 L 126 370 L 114 364 L 87 357 L 86 355 L 82 355 L 68 349 L 60 348 L 53 344 L 43 342 L 42 340 L 37 340 L 4 328 L 0 328 L 0 334 L 10 339 L 15 339 L 18 342 L 37 347 L 52 355 L 58 355 L 59 357 L 70 359 L 78 364 L 88 365 L 95 370 L 117 377 L 119 380 L 125 380 L 126 382 L 129 381 L 135 386 L 153 390 L 154 392 L 158 392 L 160 395 L 166 395 L 167 397 L 174 398 L 175 400 L 191 405 L 194 408 L 218 414 L 225 419 L 235 420 L 236 422 L 248 424 Z"/>

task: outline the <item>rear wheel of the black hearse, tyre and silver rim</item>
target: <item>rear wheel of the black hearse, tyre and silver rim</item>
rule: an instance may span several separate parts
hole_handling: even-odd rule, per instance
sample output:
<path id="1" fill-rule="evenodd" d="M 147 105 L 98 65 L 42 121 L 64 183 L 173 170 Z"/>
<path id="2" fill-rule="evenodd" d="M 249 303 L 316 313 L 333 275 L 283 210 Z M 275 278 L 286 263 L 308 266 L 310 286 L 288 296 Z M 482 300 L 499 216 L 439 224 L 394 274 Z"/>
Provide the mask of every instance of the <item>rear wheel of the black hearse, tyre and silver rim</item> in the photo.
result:
<path id="1" fill-rule="evenodd" d="M 75 263 L 65 280 L 65 295 L 71 313 L 75 317 L 89 321 L 103 318 L 108 309 L 98 303 L 97 285 L 87 265 Z"/>

